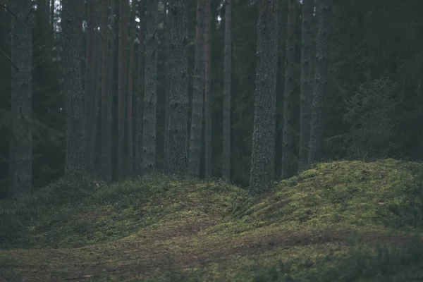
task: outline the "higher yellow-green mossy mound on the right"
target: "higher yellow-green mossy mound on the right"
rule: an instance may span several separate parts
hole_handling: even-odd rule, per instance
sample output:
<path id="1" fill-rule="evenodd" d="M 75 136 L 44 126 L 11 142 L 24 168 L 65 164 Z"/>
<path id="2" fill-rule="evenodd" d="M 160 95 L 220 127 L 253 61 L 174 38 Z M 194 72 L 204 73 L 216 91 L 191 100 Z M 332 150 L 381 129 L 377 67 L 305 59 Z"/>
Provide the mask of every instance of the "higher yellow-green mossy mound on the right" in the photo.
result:
<path id="1" fill-rule="evenodd" d="M 233 212 L 230 222 L 213 230 L 229 228 L 243 233 L 283 224 L 283 229 L 293 231 L 329 226 L 376 231 L 392 226 L 393 221 L 405 228 L 415 227 L 423 221 L 410 219 L 403 208 L 413 199 L 423 199 L 418 192 L 422 191 L 422 178 L 416 174 L 421 175 L 421 168 L 419 163 L 393 159 L 318 164 L 277 183 L 269 195 L 246 200 Z M 411 184 L 417 189 L 411 191 Z"/>

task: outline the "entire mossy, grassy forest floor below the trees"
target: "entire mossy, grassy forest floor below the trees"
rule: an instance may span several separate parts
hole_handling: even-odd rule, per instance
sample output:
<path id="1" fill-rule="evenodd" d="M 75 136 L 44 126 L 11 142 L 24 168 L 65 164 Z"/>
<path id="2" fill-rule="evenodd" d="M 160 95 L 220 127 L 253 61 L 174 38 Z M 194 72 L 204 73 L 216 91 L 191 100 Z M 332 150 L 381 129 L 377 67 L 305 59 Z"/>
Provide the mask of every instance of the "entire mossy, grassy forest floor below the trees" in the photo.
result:
<path id="1" fill-rule="evenodd" d="M 423 281 L 422 168 L 330 162 L 260 197 L 59 180 L 0 202 L 0 281 Z"/>

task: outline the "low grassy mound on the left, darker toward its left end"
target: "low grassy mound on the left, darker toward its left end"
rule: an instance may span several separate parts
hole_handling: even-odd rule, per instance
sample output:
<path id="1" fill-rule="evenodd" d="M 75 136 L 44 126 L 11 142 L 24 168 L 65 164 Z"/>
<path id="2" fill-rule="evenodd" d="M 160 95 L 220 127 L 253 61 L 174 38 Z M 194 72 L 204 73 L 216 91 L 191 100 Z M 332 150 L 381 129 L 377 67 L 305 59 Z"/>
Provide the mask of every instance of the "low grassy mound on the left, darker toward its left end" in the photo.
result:
<path id="1" fill-rule="evenodd" d="M 245 195 L 224 183 L 163 175 L 113 185 L 59 180 L 16 202 L 0 202 L 0 247 L 80 247 L 145 237 L 145 228 L 168 236 L 196 233 L 184 226 L 214 225 Z"/>

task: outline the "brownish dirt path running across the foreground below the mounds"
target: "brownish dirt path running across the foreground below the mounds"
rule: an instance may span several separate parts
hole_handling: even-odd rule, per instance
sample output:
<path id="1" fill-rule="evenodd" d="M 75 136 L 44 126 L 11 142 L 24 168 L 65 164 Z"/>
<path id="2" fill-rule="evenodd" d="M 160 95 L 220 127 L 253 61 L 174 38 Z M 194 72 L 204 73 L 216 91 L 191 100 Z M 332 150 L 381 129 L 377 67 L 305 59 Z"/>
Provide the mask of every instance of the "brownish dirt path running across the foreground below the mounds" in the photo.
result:
<path id="1" fill-rule="evenodd" d="M 0 281 L 127 281 L 157 271 L 224 263 L 233 256 L 261 255 L 276 248 L 331 243 L 343 245 L 350 231 L 278 231 L 216 238 L 197 236 L 202 228 L 180 228 L 167 236 L 92 245 L 77 249 L 10 250 L 0 252 Z M 198 226 L 197 226 L 198 227 Z M 189 232 L 187 232 L 189 231 Z M 407 243 L 410 235 L 397 237 L 361 233 L 360 243 Z"/>

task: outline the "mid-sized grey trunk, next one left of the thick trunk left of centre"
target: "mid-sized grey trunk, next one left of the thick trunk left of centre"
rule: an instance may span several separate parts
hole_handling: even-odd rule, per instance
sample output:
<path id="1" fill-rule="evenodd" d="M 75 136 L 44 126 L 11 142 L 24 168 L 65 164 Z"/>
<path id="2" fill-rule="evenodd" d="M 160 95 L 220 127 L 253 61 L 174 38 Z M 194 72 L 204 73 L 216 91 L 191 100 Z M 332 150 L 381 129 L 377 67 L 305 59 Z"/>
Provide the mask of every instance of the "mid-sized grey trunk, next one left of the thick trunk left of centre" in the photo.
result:
<path id="1" fill-rule="evenodd" d="M 157 123 L 157 1 L 145 3 L 144 120 L 142 130 L 142 174 L 156 169 Z"/>

